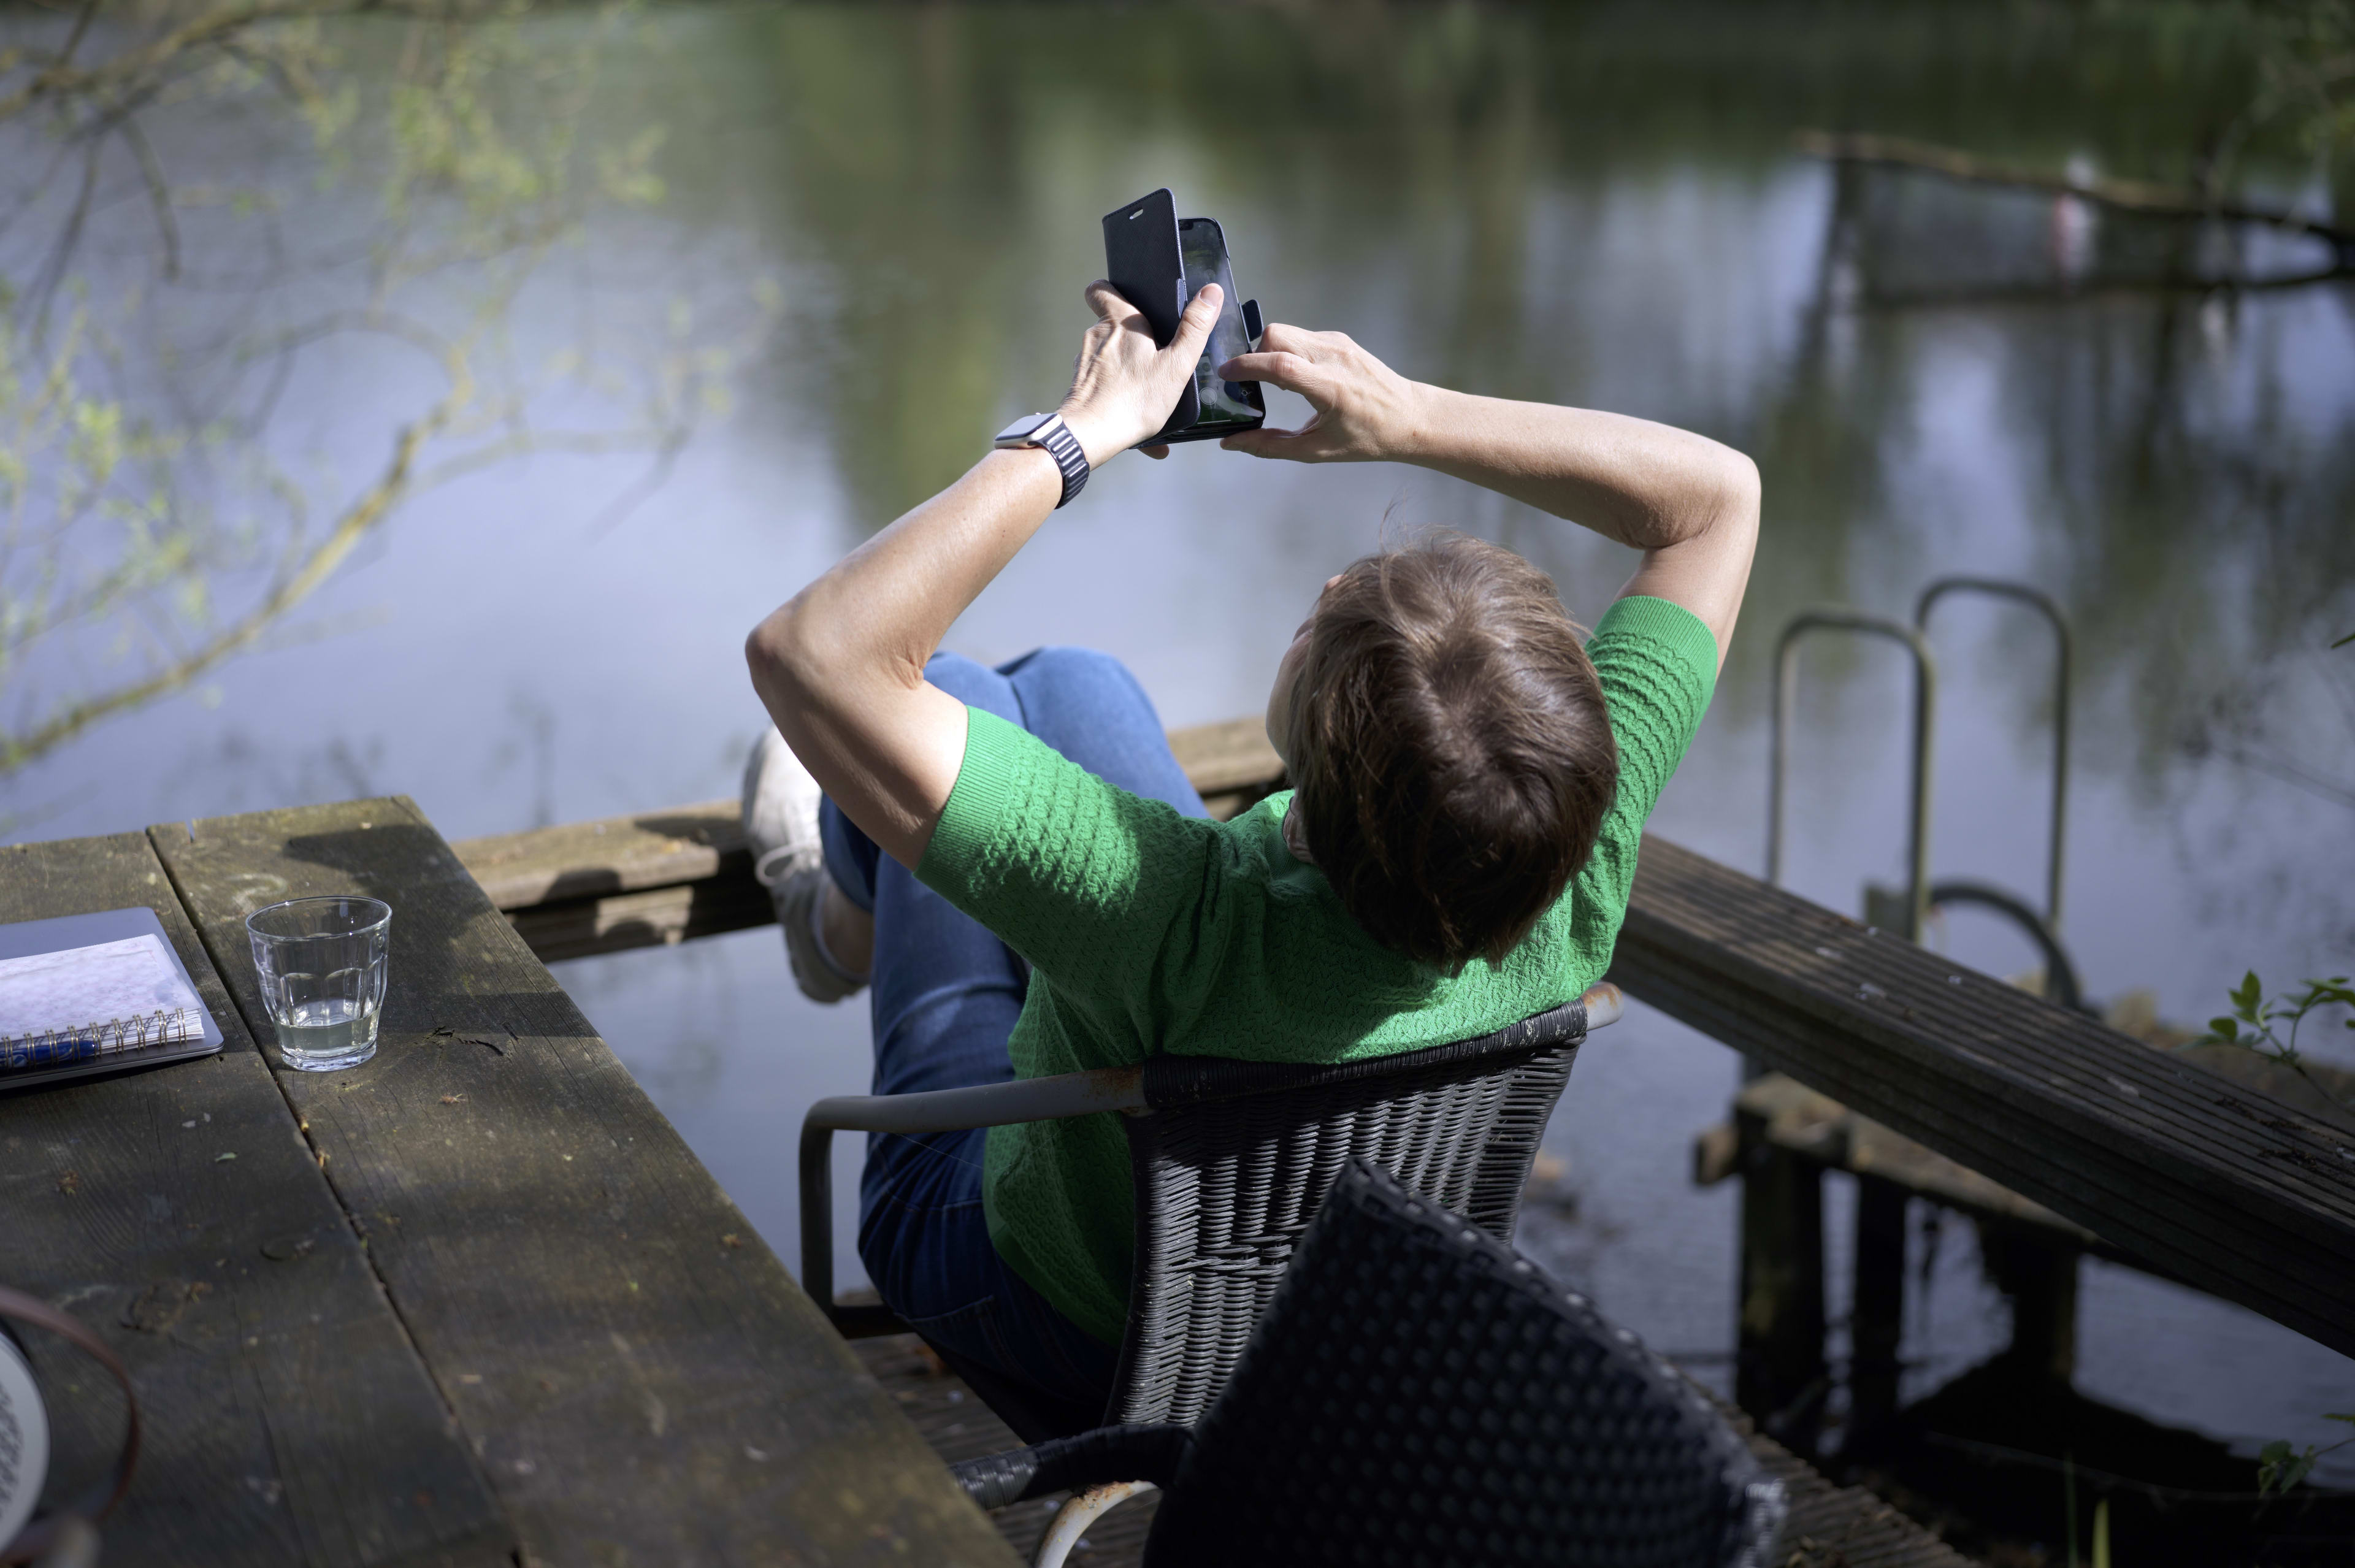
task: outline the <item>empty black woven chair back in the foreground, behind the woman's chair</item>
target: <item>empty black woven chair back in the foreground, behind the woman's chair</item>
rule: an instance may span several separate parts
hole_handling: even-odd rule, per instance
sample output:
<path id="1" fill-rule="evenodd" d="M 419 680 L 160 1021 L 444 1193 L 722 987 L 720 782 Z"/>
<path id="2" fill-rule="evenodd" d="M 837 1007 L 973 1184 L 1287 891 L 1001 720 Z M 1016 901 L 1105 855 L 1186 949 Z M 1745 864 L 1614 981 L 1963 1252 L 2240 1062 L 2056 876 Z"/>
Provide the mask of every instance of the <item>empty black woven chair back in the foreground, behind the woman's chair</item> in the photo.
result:
<path id="1" fill-rule="evenodd" d="M 1354 1161 L 1178 1460 L 1149 1568 L 1759 1568 L 1783 1488 L 1632 1333 Z"/>

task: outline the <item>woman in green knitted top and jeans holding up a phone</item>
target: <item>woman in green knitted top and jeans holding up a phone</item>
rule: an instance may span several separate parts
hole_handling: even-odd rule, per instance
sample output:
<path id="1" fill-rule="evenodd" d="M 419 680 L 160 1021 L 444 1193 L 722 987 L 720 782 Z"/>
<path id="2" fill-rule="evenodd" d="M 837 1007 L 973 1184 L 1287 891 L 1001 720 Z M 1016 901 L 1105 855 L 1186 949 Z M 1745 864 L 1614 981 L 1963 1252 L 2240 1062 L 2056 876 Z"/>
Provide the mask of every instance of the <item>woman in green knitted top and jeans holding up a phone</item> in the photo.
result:
<path id="1" fill-rule="evenodd" d="M 876 1092 L 1161 1050 L 1338 1062 L 1585 991 L 1733 636 L 1757 469 L 1686 431 L 1422 386 L 1342 334 L 1269 325 L 1220 374 L 1295 391 L 1314 419 L 1227 450 L 1422 464 L 1644 560 L 1585 647 L 1552 582 L 1491 544 L 1345 567 L 1267 702 L 1295 786 L 1215 824 L 1109 657 L 1048 647 L 989 671 L 935 652 L 1093 466 L 1161 428 L 1220 297 L 1206 287 L 1161 351 L 1109 285 L 1088 304 L 1055 419 L 1017 421 L 747 640 L 777 725 L 747 768 L 747 833 L 803 991 L 871 986 Z M 1130 1257 L 1121 1130 L 1107 1114 L 874 1140 L 860 1255 L 935 1344 L 1100 1406 Z"/>

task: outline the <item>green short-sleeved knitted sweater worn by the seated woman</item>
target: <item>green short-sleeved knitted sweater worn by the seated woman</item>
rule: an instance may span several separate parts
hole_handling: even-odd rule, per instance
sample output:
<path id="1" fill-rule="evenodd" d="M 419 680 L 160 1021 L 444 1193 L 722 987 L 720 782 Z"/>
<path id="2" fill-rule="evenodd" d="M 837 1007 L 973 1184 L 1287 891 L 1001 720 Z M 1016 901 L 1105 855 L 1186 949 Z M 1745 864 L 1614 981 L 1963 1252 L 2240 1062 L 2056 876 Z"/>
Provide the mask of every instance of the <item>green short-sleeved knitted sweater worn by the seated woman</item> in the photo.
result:
<path id="1" fill-rule="evenodd" d="M 1627 913 L 1644 817 L 1717 685 L 1689 610 L 1623 598 L 1587 643 L 1620 751 L 1594 855 L 1502 965 L 1453 979 L 1378 946 L 1324 873 L 1283 848 L 1291 793 L 1234 822 L 1180 817 L 982 711 L 916 876 L 1031 968 L 1010 1050 L 1024 1078 L 1156 1050 L 1347 1062 L 1444 1045 L 1601 979 Z M 1119 1344 L 1130 1189 L 1119 1116 L 991 1128 L 989 1238 L 1064 1316 Z"/>

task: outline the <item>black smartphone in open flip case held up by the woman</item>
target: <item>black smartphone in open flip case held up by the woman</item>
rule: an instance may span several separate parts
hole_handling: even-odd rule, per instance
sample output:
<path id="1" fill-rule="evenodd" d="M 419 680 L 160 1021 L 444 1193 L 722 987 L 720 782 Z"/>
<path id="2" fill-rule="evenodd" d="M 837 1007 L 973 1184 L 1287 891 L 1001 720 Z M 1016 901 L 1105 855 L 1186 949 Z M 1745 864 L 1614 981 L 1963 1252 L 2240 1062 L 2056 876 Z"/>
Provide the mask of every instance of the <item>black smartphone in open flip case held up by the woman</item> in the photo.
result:
<path id="1" fill-rule="evenodd" d="M 1180 221 L 1168 188 L 1107 212 L 1104 278 L 1145 315 L 1161 346 L 1178 334 L 1178 315 L 1201 285 L 1215 283 L 1227 297 L 1210 327 L 1210 344 L 1194 365 L 1194 381 L 1178 398 L 1168 424 L 1137 445 L 1218 440 L 1267 421 L 1258 381 L 1227 381 L 1218 374 L 1220 365 L 1251 348 L 1253 332 L 1246 323 L 1258 318 L 1258 301 L 1236 299 L 1227 235 L 1213 219 Z"/>

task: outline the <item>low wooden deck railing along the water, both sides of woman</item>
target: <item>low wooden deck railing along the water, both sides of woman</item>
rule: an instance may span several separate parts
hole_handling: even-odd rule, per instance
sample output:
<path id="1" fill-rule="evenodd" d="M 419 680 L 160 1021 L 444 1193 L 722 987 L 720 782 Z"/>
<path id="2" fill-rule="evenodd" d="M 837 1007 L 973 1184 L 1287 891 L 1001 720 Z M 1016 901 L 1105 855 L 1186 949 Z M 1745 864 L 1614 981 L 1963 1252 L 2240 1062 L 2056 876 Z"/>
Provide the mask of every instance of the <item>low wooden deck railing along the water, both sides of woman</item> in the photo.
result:
<path id="1" fill-rule="evenodd" d="M 1281 782 L 1258 720 L 1178 730 L 1213 810 Z M 735 800 L 455 845 L 542 958 L 772 921 Z M 2355 1354 L 2355 1135 L 1646 838 L 1611 979 L 2110 1255 Z"/>

